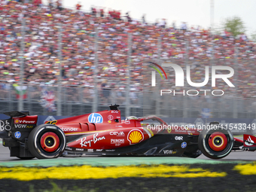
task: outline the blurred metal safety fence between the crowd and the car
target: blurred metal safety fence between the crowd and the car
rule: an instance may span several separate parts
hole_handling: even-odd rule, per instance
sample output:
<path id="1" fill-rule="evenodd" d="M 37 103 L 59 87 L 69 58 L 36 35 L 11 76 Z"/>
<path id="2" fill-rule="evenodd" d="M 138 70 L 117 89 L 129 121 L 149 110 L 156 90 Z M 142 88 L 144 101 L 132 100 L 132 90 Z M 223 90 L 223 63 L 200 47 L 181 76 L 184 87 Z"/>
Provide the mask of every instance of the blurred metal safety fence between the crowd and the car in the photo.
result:
<path id="1" fill-rule="evenodd" d="M 0 112 L 17 111 L 19 88 L 11 83 L 0 83 Z M 67 116 L 90 113 L 93 110 L 93 99 L 96 96 L 94 87 L 88 86 L 62 86 L 61 105 L 62 114 Z M 130 91 L 130 115 L 141 117 L 143 115 L 157 114 L 157 93 Z M 110 104 L 119 104 L 122 116 L 125 116 L 126 90 L 99 87 L 98 110 L 108 109 Z M 145 99 L 146 98 L 146 99 Z M 24 109 L 31 114 L 56 115 L 57 85 L 24 84 L 23 103 Z M 187 99 L 187 102 L 184 100 Z M 187 103 L 187 105 L 184 105 Z M 238 110 L 234 110 L 234 106 Z M 234 97 L 186 97 L 186 96 L 162 96 L 159 103 L 160 117 L 203 117 L 204 108 L 209 109 L 209 117 L 215 118 L 254 118 L 256 116 L 256 99 L 244 99 Z M 237 114 L 234 114 L 236 111 Z"/>

